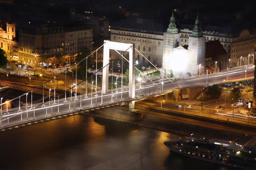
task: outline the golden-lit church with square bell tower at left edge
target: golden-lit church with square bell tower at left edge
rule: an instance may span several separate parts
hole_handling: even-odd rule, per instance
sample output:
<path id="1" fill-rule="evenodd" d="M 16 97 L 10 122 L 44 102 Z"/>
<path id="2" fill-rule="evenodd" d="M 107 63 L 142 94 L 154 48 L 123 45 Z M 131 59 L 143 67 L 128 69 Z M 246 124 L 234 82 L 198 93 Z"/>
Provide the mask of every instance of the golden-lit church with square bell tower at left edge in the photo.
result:
<path id="1" fill-rule="evenodd" d="M 6 23 L 6 31 L 0 27 L 0 47 L 6 53 L 7 59 L 10 61 L 19 61 L 18 55 L 19 43 L 15 38 L 15 23 Z"/>

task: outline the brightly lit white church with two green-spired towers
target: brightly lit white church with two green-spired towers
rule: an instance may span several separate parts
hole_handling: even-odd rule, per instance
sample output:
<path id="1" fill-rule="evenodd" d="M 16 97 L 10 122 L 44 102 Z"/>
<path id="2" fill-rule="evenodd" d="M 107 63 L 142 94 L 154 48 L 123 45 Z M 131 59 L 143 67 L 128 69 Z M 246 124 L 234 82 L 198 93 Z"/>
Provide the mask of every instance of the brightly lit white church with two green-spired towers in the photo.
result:
<path id="1" fill-rule="evenodd" d="M 186 49 L 179 42 L 180 33 L 178 33 L 172 13 L 169 28 L 164 32 L 164 74 L 173 74 L 175 77 L 187 77 L 204 72 L 205 37 L 203 37 L 198 16 L 191 36 L 188 39 L 188 49 Z"/>

